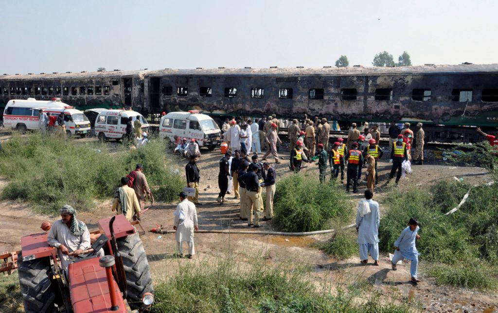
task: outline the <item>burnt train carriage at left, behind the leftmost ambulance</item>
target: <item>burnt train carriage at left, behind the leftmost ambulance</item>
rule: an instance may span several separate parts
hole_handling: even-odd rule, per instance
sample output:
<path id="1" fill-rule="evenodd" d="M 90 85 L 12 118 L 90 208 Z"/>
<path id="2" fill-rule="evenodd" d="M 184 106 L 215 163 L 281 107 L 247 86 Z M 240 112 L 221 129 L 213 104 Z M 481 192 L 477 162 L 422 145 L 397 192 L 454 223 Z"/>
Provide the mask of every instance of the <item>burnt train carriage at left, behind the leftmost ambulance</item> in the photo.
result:
<path id="1" fill-rule="evenodd" d="M 142 110 L 143 74 L 144 71 L 112 71 L 3 75 L 0 77 L 0 108 L 10 99 L 59 97 L 80 110 L 124 106 Z"/>

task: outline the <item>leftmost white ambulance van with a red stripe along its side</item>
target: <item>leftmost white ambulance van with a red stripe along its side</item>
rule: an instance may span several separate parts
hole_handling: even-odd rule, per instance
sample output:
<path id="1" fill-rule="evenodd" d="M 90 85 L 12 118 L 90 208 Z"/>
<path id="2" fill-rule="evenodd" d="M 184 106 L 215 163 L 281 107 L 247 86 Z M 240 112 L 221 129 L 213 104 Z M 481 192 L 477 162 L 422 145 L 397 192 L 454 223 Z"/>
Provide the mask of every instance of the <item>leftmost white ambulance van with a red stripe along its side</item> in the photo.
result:
<path id="1" fill-rule="evenodd" d="M 85 137 L 90 132 L 90 121 L 82 111 L 61 102 L 60 98 L 51 101 L 38 101 L 34 98 L 27 100 L 10 100 L 3 111 L 3 125 L 17 129 L 21 133 L 27 130 L 39 129 L 40 110 L 58 117 L 64 114 L 64 124 L 68 136 L 78 135 Z"/>

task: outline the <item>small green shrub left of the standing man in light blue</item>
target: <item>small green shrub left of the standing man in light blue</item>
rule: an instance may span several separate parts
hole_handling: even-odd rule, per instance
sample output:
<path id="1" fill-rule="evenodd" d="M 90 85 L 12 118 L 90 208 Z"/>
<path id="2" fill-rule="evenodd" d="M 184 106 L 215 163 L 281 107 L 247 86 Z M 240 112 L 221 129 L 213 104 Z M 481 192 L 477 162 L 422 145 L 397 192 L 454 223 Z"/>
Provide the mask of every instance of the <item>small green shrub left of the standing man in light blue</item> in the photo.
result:
<path id="1" fill-rule="evenodd" d="M 327 242 L 320 244 L 320 249 L 338 260 L 348 259 L 358 254 L 356 233 L 353 230 L 342 230 L 340 227 L 335 229 L 334 236 Z"/>

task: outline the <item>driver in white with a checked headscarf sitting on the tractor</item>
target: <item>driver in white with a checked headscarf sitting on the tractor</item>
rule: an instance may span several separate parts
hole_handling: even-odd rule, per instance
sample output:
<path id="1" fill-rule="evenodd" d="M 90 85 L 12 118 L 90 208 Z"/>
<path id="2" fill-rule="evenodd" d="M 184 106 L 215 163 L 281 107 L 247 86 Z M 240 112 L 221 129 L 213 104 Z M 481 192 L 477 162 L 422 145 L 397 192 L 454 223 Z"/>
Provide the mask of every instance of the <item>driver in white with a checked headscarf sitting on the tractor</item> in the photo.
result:
<path id="1" fill-rule="evenodd" d="M 67 272 L 67 267 L 73 262 L 71 256 L 85 256 L 83 251 L 90 248 L 90 232 L 82 221 L 76 219 L 76 210 L 70 205 L 63 205 L 61 219 L 55 221 L 47 236 L 47 242 L 57 248 L 62 268 Z M 104 250 L 95 253 L 103 256 Z"/>

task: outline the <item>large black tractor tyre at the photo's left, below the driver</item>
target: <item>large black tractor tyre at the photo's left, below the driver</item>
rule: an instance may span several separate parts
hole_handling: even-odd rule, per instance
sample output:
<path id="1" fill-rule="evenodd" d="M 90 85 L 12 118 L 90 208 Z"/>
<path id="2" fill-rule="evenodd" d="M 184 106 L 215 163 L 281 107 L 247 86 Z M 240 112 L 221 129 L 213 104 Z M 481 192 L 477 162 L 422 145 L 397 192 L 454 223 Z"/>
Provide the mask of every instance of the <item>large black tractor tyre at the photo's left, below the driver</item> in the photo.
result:
<path id="1" fill-rule="evenodd" d="M 19 254 L 18 260 L 22 260 Z M 55 292 L 50 280 L 50 259 L 43 257 L 32 261 L 19 261 L 19 285 L 26 313 L 57 312 Z"/>

